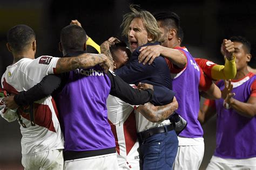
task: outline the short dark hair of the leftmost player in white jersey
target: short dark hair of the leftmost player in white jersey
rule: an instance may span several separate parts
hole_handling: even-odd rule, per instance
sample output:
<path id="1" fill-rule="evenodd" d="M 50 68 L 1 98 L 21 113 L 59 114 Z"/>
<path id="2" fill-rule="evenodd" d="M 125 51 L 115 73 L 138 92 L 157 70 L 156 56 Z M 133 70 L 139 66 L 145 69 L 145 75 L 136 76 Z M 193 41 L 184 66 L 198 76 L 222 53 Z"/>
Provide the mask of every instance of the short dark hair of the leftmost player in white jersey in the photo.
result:
<path id="1" fill-rule="evenodd" d="M 35 39 L 36 34 L 28 25 L 16 25 L 7 33 L 7 41 L 15 52 L 23 51 Z"/>

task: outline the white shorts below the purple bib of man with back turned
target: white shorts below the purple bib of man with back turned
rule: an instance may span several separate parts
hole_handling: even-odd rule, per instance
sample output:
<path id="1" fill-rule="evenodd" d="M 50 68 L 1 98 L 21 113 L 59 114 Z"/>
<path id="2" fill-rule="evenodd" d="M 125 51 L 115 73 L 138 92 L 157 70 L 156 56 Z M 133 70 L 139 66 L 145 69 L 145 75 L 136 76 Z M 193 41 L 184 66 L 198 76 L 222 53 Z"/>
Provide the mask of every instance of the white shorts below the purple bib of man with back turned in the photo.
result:
<path id="1" fill-rule="evenodd" d="M 78 169 L 117 170 L 118 169 L 117 153 L 99 155 L 96 157 L 66 160 L 64 162 L 64 169 L 65 170 L 78 170 Z"/>

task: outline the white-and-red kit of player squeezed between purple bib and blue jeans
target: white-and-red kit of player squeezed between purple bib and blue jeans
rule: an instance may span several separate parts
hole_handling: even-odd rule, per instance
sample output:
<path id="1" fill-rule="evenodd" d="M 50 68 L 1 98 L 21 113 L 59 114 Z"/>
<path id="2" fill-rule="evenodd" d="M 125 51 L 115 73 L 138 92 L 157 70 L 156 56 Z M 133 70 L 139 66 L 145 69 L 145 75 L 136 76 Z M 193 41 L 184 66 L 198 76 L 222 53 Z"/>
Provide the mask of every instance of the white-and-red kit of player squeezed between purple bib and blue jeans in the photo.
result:
<path id="1" fill-rule="evenodd" d="M 116 140 L 119 168 L 139 169 L 139 142 L 133 106 L 109 95 L 107 117 Z"/>

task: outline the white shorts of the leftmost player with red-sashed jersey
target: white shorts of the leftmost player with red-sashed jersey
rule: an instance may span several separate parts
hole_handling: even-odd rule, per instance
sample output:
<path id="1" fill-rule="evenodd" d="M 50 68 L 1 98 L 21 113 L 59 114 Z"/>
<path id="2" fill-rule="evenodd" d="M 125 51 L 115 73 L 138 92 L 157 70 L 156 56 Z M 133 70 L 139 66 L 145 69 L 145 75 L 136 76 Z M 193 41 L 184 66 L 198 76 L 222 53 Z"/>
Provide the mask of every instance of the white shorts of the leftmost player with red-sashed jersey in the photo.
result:
<path id="1" fill-rule="evenodd" d="M 25 170 L 34 169 L 63 169 L 63 152 L 62 150 L 52 150 L 31 156 L 22 156 L 22 165 Z"/>

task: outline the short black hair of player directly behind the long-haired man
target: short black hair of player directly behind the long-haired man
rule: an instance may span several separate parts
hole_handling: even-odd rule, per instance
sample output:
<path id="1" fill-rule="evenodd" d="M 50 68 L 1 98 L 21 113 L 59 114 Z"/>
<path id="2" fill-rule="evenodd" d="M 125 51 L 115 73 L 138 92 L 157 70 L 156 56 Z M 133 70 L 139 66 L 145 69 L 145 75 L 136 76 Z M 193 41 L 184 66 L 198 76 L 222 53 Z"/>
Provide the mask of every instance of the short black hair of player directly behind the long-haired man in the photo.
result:
<path id="1" fill-rule="evenodd" d="M 153 13 L 154 18 L 160 21 L 161 24 L 167 26 L 169 29 L 179 30 L 180 19 L 177 13 L 171 11 L 161 11 Z"/>

